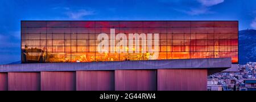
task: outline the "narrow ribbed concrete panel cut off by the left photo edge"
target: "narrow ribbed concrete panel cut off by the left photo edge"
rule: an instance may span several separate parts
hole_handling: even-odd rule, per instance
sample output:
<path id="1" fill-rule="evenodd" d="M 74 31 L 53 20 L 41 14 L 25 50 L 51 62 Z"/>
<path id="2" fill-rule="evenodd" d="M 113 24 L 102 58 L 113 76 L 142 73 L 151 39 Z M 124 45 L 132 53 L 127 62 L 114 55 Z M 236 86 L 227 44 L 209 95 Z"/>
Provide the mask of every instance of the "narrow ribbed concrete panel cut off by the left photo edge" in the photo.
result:
<path id="1" fill-rule="evenodd" d="M 0 73 L 0 91 L 8 90 L 8 75 L 7 73 Z"/>

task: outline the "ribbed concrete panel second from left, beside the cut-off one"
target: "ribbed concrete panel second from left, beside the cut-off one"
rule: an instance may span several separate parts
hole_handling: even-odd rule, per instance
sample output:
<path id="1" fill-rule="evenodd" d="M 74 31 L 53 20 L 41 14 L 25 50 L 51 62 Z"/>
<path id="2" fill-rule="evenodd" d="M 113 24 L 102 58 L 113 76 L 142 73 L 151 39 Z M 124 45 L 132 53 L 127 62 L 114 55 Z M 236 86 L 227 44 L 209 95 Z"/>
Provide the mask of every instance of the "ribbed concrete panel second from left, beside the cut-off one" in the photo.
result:
<path id="1" fill-rule="evenodd" d="M 9 91 L 40 91 L 40 73 L 8 73 Z"/>

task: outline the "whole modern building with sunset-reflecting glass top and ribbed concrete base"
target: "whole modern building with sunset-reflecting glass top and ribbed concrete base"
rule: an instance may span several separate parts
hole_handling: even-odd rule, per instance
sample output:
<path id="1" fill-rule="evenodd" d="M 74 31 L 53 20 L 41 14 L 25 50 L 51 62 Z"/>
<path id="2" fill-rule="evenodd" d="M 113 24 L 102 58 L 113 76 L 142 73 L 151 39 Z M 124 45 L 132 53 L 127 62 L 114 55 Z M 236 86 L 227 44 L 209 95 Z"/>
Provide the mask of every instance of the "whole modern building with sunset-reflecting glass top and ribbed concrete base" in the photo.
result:
<path id="1" fill-rule="evenodd" d="M 237 66 L 238 22 L 22 21 L 20 47 L 0 90 L 207 90 Z"/>

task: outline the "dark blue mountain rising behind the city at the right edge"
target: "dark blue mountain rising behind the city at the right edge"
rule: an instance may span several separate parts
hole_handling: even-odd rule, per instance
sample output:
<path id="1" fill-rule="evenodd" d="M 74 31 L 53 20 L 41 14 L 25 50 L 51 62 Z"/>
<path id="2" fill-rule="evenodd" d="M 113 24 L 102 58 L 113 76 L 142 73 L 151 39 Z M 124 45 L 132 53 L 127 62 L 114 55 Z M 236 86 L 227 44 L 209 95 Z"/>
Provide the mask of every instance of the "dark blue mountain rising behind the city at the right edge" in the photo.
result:
<path id="1" fill-rule="evenodd" d="M 239 63 L 256 62 L 256 30 L 239 31 Z"/>

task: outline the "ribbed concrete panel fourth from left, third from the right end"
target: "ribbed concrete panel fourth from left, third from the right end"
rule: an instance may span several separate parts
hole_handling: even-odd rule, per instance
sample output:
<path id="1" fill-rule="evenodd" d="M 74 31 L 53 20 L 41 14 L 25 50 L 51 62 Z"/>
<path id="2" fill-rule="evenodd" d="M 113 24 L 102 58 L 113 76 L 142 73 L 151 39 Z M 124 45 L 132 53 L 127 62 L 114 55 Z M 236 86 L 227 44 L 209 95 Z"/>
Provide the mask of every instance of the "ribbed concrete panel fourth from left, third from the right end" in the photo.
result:
<path id="1" fill-rule="evenodd" d="M 114 91 L 114 71 L 76 71 L 77 91 Z"/>

